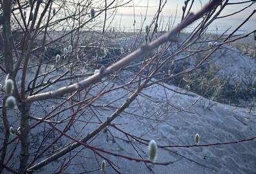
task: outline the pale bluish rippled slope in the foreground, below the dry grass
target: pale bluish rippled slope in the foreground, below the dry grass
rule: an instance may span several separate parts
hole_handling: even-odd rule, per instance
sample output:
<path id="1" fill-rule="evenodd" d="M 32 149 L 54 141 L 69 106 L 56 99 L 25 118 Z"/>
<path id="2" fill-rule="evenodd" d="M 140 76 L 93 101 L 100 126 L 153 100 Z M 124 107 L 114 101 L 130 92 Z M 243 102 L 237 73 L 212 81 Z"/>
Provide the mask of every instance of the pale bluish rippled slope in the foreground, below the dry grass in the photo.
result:
<path id="1" fill-rule="evenodd" d="M 182 91 L 175 86 L 169 88 Z M 109 93 L 100 98 L 97 104 L 105 104 L 125 93 L 119 90 L 117 93 Z M 167 101 L 169 104 L 167 104 Z M 164 88 L 153 86 L 144 90 L 143 94 L 125 110 L 114 124 L 122 124 L 118 128 L 125 130 L 137 137 L 151 140 L 155 139 L 158 145 L 189 145 L 195 144 L 194 136 L 200 134 L 200 144 L 211 144 L 216 142 L 230 142 L 247 139 L 255 136 L 255 113 L 248 113 L 247 110 L 234 108 L 217 102 L 211 102 L 199 96 L 187 96 L 167 90 L 167 101 Z M 196 102 L 197 101 L 197 102 Z M 196 102 L 196 103 L 195 103 Z M 118 101 L 112 106 L 118 107 Z M 95 105 L 97 105 L 95 104 Z M 179 108 L 179 110 L 173 108 Z M 180 110 L 186 111 L 180 111 Z M 37 110 L 38 111 L 38 110 Z M 98 117 L 104 121 L 113 108 L 95 108 Z M 92 114 L 86 112 L 80 119 L 89 121 Z M 91 121 L 98 121 L 96 118 Z M 72 131 L 80 131 L 85 124 L 75 124 Z M 91 130 L 88 126 L 86 130 Z M 87 131 L 83 130 L 85 134 Z M 74 133 L 70 131 L 70 134 Z M 102 132 L 91 142 L 95 146 L 116 153 L 138 157 L 133 149 L 147 158 L 147 146 L 139 145 L 135 141 L 131 143 L 123 140 L 125 135 L 109 127 L 109 132 Z M 34 132 L 36 133 L 36 132 Z M 74 133 L 75 134 L 75 133 Z M 158 152 L 157 162 L 173 161 L 168 166 L 152 166 L 154 173 L 255 173 L 256 171 L 256 141 L 241 142 L 239 144 L 219 145 L 211 147 L 194 148 L 167 148 Z M 81 150 L 79 148 L 79 150 Z M 79 150 L 76 150 L 78 152 Z M 75 153 L 75 152 L 73 152 Z M 72 164 L 80 164 L 67 169 L 69 173 L 79 173 L 98 169 L 98 162 L 94 159 L 91 150 L 83 149 L 79 152 L 80 157 L 72 160 Z M 138 163 L 105 155 L 114 162 L 122 173 L 150 173 L 144 163 Z M 66 158 L 69 155 L 65 156 Z M 62 158 L 63 160 L 64 158 Z M 62 160 L 59 160 L 61 162 Z M 99 159 L 101 161 L 101 159 Z M 60 163 L 58 163 L 60 165 Z M 56 162 L 43 168 L 39 173 L 50 173 L 56 166 Z M 109 167 L 107 173 L 114 173 Z M 94 171 L 92 173 L 101 173 Z"/>

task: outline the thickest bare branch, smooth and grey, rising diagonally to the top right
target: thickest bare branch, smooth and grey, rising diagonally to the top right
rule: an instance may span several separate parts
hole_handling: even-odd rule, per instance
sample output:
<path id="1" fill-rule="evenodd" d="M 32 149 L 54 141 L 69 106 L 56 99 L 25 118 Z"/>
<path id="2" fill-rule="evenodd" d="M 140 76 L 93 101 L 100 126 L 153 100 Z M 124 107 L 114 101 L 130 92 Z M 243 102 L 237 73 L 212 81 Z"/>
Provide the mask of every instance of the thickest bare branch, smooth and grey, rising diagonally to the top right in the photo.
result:
<path id="1" fill-rule="evenodd" d="M 51 99 L 51 98 L 59 97 L 74 91 L 80 91 L 89 87 L 91 84 L 94 84 L 100 81 L 102 77 L 109 75 L 110 73 L 113 73 L 116 70 L 119 70 L 120 68 L 135 61 L 136 59 L 139 59 L 142 55 L 144 55 L 145 52 L 154 50 L 155 48 L 157 48 L 158 46 L 160 46 L 161 44 L 167 41 L 176 41 L 176 34 L 178 32 L 180 32 L 182 29 L 186 28 L 189 24 L 193 23 L 194 21 L 202 17 L 202 15 L 206 14 L 206 12 L 209 12 L 210 10 L 212 10 L 216 5 L 219 5 L 220 2 L 221 0 L 213 0 L 208 5 L 204 6 L 202 10 L 197 12 L 197 14 L 187 15 L 186 19 L 184 19 L 182 23 L 178 24 L 176 28 L 158 37 L 158 39 L 156 39 L 155 41 L 141 46 L 138 50 L 134 51 L 133 53 L 130 53 L 126 57 L 123 57 L 123 59 L 112 64 L 108 68 L 102 68 L 100 73 L 96 73 L 83 81 L 77 82 L 75 84 L 71 84 L 69 86 L 65 86 L 63 88 L 59 88 L 58 90 L 31 95 L 27 97 L 26 102 L 34 102 L 34 101 L 39 101 L 44 99 Z"/>

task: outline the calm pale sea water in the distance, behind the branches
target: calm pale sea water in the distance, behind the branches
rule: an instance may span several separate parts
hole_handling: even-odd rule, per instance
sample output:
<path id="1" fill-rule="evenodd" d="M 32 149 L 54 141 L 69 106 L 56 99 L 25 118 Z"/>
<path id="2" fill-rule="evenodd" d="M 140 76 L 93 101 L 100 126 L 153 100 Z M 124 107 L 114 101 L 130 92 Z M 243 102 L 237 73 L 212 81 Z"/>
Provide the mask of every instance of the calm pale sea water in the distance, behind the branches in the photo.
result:
<path id="1" fill-rule="evenodd" d="M 144 26 L 147 24 L 150 24 L 151 21 L 153 19 L 153 16 L 148 16 L 145 19 L 144 22 Z M 176 17 L 175 19 L 175 24 L 180 23 L 181 18 L 180 17 Z M 135 28 L 135 30 L 140 30 L 140 28 L 142 27 L 142 21 L 144 21 L 144 16 L 140 16 L 140 15 L 135 15 L 135 25 L 134 24 L 134 16 L 133 15 L 116 15 L 114 17 L 114 20 L 111 23 L 111 26 L 114 27 L 116 30 L 118 31 L 125 31 L 125 32 L 132 32 Z M 162 16 L 160 17 L 160 19 L 158 19 L 158 30 L 167 30 L 167 25 L 174 21 L 174 19 L 171 19 L 171 17 L 169 16 Z M 222 34 L 224 31 L 229 29 L 229 32 L 233 32 L 233 30 L 235 30 L 235 28 L 237 28 L 237 26 L 239 26 L 240 23 L 242 23 L 243 20 L 242 19 L 216 19 L 215 21 L 213 21 L 213 23 L 211 25 L 208 26 L 208 32 L 211 33 L 215 33 L 218 32 L 218 34 Z M 192 32 L 195 27 L 197 26 L 197 24 L 199 23 L 199 21 L 196 21 L 195 23 L 191 24 L 190 26 L 188 26 L 186 29 L 184 29 L 184 31 L 186 32 Z M 144 27 L 143 27 L 144 29 Z M 248 21 L 246 24 L 244 24 L 244 26 L 242 26 L 242 28 L 239 29 L 239 31 L 237 32 L 237 34 L 243 34 L 245 32 L 251 32 L 253 30 L 256 29 L 256 21 L 255 20 L 250 20 Z"/>

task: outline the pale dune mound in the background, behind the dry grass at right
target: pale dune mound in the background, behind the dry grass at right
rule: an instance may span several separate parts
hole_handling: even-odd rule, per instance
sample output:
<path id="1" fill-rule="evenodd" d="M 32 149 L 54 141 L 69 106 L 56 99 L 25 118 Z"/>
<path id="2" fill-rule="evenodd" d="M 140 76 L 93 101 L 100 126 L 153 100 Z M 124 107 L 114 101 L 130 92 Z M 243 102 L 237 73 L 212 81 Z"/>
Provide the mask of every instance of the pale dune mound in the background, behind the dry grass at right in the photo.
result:
<path id="1" fill-rule="evenodd" d="M 181 34 L 179 41 L 180 43 L 182 43 L 183 41 L 186 41 L 188 37 L 188 34 Z M 202 59 L 204 57 L 206 57 L 206 55 L 208 55 L 209 52 L 211 52 L 211 49 L 209 49 L 208 47 L 208 42 L 207 41 L 211 41 L 212 43 L 214 43 L 215 38 L 213 38 L 212 36 L 204 36 L 201 39 L 198 40 L 198 42 L 202 41 L 202 43 L 200 44 L 194 44 L 191 47 L 187 48 L 187 50 L 204 50 L 206 49 L 206 51 L 204 52 L 200 52 L 200 53 L 191 53 L 191 52 L 181 52 L 178 55 L 175 55 L 175 58 L 173 59 L 180 59 L 182 57 L 185 57 L 189 54 L 191 54 L 191 56 L 189 56 L 187 59 L 183 60 L 183 61 L 177 61 L 176 64 L 180 64 L 180 66 L 189 63 L 191 64 L 191 66 L 196 66 L 198 63 L 200 63 L 200 61 L 202 61 Z M 252 37 L 246 37 L 246 41 L 250 42 L 251 44 L 254 44 L 255 41 L 251 41 Z M 243 42 L 245 42 L 243 40 Z M 138 45 L 142 44 L 144 41 L 143 38 L 139 37 L 139 39 L 136 40 L 136 43 Z M 239 44 L 240 41 L 237 41 L 235 43 Z M 242 42 L 242 41 L 241 41 Z M 112 41 L 112 44 L 116 44 L 117 46 L 119 45 L 120 48 L 122 46 L 124 47 L 129 47 L 131 45 L 133 45 L 134 43 L 134 37 L 121 37 L 118 39 L 115 39 L 114 41 Z M 218 43 L 218 42 L 217 42 Z M 233 43 L 233 44 L 235 44 Z M 220 43 L 218 43 L 220 44 Z M 240 43 L 242 44 L 242 43 Z M 198 48 L 198 46 L 200 45 L 200 47 Z M 208 49 L 208 50 L 207 50 Z M 172 44 L 169 49 L 168 52 L 169 54 L 171 54 L 172 52 L 174 52 L 176 50 L 176 44 Z M 168 54 L 168 53 L 167 53 Z M 207 64 L 210 64 L 211 66 L 216 66 L 218 67 L 219 73 L 218 75 L 220 77 L 224 77 L 226 79 L 229 79 L 229 82 L 238 82 L 238 81 L 243 81 L 243 80 L 248 80 L 246 78 L 248 78 L 248 75 L 251 74 L 255 74 L 256 73 L 256 61 L 255 59 L 251 59 L 251 57 L 249 57 L 248 55 L 241 53 L 239 50 L 237 50 L 237 48 L 235 48 L 234 46 L 230 46 L 227 44 L 224 44 L 222 46 L 220 46 L 219 50 L 217 50 L 216 52 L 213 53 L 213 55 L 211 55 L 208 59 L 208 61 L 206 61 Z M 256 81 L 256 75 L 251 75 L 252 77 L 252 81 Z"/>

